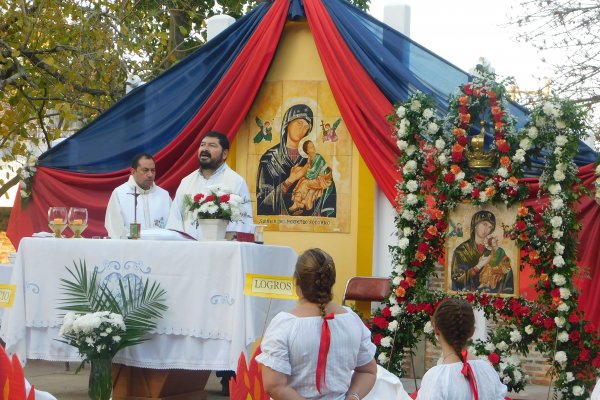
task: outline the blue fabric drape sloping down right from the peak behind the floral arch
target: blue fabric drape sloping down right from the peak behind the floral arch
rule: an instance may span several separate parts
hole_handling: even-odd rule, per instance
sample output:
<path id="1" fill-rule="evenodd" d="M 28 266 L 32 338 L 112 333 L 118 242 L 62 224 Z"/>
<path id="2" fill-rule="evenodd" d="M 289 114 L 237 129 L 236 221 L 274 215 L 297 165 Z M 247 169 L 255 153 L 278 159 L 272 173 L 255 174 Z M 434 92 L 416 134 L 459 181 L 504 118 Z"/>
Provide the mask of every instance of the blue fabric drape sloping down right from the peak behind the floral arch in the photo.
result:
<path id="1" fill-rule="evenodd" d="M 432 96 L 438 111 L 445 114 L 449 95 L 471 80 L 468 73 L 356 6 L 343 0 L 323 0 L 323 4 L 354 56 L 392 104 L 420 91 Z M 517 128 L 527 123 L 525 108 L 511 102 L 508 111 L 517 119 Z M 486 143 L 492 140 L 488 133 Z M 596 153 L 585 143 L 579 147 L 578 165 L 596 160 Z M 534 159 L 527 174 L 539 175 L 543 164 L 543 157 Z"/>

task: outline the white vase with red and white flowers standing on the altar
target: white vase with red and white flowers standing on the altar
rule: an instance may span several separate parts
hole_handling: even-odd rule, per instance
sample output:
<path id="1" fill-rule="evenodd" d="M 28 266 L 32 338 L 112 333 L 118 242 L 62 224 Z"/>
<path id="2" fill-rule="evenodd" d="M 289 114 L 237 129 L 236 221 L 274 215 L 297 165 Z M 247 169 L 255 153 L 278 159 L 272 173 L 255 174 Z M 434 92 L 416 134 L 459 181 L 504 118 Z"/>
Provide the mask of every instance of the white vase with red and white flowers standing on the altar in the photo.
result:
<path id="1" fill-rule="evenodd" d="M 193 224 L 201 228 L 201 240 L 223 240 L 229 222 L 247 215 L 244 199 L 224 186 L 207 186 L 194 196 L 186 195 L 183 202 Z"/>

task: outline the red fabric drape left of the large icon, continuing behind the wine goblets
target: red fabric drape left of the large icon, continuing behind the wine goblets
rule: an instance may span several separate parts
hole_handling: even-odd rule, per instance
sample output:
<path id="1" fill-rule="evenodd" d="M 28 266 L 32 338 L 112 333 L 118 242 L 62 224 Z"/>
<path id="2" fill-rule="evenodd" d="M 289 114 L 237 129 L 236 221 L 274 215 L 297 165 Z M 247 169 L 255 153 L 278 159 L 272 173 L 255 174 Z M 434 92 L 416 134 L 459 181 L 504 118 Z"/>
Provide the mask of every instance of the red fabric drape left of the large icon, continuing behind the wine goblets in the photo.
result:
<path id="1" fill-rule="evenodd" d="M 288 0 L 277 0 L 227 71 L 214 93 L 176 140 L 156 154 L 157 183 L 171 195 L 181 179 L 198 167 L 197 150 L 202 136 L 219 130 L 233 139 L 262 84 L 287 18 Z M 110 140 L 108 138 L 107 140 Z M 87 207 L 86 236 L 106 235 L 104 214 L 112 189 L 125 182 L 127 169 L 107 174 L 77 174 L 39 168 L 34 178 L 34 195 L 23 207 L 17 197 L 8 224 L 15 247 L 22 237 L 47 231 L 50 206 Z"/>

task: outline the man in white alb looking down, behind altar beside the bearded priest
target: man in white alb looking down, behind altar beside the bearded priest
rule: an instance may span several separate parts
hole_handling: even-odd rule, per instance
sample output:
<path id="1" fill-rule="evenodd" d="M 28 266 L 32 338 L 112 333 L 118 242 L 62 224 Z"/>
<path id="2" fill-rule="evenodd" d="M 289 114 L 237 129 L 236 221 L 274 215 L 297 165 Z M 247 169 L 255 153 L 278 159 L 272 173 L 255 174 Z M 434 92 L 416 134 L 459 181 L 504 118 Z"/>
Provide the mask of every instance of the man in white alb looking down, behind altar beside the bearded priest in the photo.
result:
<path id="1" fill-rule="evenodd" d="M 169 218 L 171 197 L 154 183 L 156 165 L 152 155 L 135 156 L 130 172 L 127 182 L 113 190 L 106 207 L 104 227 L 113 239 L 126 238 L 129 224 L 135 220 L 141 229 L 151 229 L 165 228 Z"/>

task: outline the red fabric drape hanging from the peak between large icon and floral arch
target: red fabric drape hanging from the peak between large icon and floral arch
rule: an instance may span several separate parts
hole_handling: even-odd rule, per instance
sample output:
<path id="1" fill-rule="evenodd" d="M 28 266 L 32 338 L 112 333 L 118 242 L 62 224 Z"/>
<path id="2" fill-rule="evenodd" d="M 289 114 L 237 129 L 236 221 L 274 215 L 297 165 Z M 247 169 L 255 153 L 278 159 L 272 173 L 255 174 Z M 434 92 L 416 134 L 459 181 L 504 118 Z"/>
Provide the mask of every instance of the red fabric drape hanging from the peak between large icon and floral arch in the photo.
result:
<path id="1" fill-rule="evenodd" d="M 325 75 L 352 140 L 377 184 L 393 203 L 399 175 L 398 149 L 386 115 L 393 106 L 356 60 L 320 0 L 304 0 L 304 10 Z"/>

